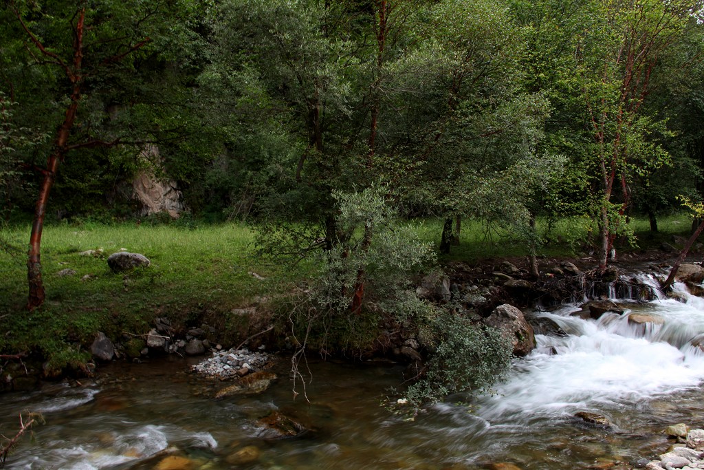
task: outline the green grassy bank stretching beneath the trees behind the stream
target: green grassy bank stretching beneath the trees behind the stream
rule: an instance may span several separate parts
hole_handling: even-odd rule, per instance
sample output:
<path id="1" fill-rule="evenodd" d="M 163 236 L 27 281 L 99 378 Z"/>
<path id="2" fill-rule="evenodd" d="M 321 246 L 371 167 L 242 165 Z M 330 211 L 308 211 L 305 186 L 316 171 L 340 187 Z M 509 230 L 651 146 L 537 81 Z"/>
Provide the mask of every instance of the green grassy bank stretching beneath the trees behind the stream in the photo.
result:
<path id="1" fill-rule="evenodd" d="M 411 223 L 422 240 L 435 243 L 442 222 Z M 689 219 L 673 216 L 660 221 L 660 233 L 648 233 L 647 221 L 634 221 L 641 247 L 672 242 L 672 235 L 687 235 Z M 548 230 L 539 224 L 548 243 L 546 256 L 582 256 L 589 233 L 583 219 L 562 220 Z M 50 365 L 78 364 L 84 350 L 101 330 L 108 337 L 143 334 L 159 316 L 182 326 L 210 325 L 230 332 L 239 341 L 246 332 L 234 309 L 256 304 L 260 297 L 289 292 L 310 274 L 310 265 L 295 267 L 256 256 L 254 233 L 244 225 L 48 225 L 42 240 L 46 304 L 28 314 L 24 247 L 29 227 L 16 225 L 0 232 L 1 240 L 18 247 L 0 250 L 0 352 L 40 352 Z M 444 261 L 524 256 L 525 249 L 508 230 L 477 222 L 463 223 L 461 243 Z M 84 256 L 86 250 L 102 250 Z M 127 275 L 114 274 L 106 258 L 127 249 L 151 259 L 151 266 Z M 65 269 L 73 276 L 59 276 Z"/>

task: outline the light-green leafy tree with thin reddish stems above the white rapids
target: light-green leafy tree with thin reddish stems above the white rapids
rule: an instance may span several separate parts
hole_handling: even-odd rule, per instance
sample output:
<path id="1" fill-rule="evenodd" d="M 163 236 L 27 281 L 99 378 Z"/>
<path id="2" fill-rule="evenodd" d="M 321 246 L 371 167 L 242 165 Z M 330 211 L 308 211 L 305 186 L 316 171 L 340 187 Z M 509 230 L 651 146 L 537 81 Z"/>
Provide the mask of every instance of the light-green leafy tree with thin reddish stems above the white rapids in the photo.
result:
<path id="1" fill-rule="evenodd" d="M 665 123 L 643 112 L 658 61 L 681 38 L 699 2 L 595 1 L 575 51 L 574 78 L 591 134 L 598 186 L 599 268 L 605 269 L 620 222 L 631 202 L 634 173 L 647 175 L 668 159 L 653 132 Z M 620 202 L 612 195 L 620 187 Z"/>

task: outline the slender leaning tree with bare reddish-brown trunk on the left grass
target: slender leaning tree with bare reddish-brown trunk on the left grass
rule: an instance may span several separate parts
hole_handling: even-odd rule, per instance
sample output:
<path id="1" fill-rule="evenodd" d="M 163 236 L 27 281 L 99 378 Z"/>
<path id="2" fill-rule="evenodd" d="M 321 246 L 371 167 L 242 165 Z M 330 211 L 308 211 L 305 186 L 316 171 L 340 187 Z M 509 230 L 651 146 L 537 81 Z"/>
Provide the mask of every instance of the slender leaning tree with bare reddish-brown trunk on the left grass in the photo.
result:
<path id="1" fill-rule="evenodd" d="M 37 167 L 42 179 L 27 259 L 27 308 L 30 310 L 44 302 L 40 260 L 42 230 L 49 192 L 56 181 L 59 165 L 72 151 L 113 146 L 121 140 L 120 137 L 103 140 L 91 135 L 90 129 L 85 133 L 76 132 L 79 106 L 86 101 L 87 94 L 91 96 L 99 89 L 101 81 L 110 80 L 120 68 L 130 67 L 127 59 L 149 42 L 144 28 L 149 24 L 149 18 L 158 13 L 158 6 L 129 2 L 106 2 L 100 6 L 58 3 L 43 8 L 20 2 L 11 2 L 8 6 L 25 37 L 29 54 L 27 63 L 45 70 L 51 85 L 56 87 L 56 101 L 65 106 L 46 165 Z"/>

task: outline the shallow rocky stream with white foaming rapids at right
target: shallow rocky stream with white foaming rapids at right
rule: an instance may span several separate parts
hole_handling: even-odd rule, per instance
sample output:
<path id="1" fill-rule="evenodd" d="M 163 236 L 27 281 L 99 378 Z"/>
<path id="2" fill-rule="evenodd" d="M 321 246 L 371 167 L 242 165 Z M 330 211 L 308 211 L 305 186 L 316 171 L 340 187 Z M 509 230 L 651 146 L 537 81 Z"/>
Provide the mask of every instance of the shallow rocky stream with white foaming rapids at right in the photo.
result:
<path id="1" fill-rule="evenodd" d="M 515 361 L 494 395 L 451 397 L 413 420 L 380 406 L 401 381 L 403 369 L 391 364 L 311 363 L 310 404 L 303 395 L 294 400 L 285 361 L 283 378 L 263 394 L 220 401 L 212 397 L 222 384 L 189 373 L 187 361 L 112 364 L 80 385 L 2 395 L 4 434 L 25 409 L 46 419 L 6 468 L 154 469 L 168 449 L 191 459 L 192 469 L 213 470 L 631 468 L 667 447 L 665 426 L 703 426 L 704 354 L 692 342 L 704 336 L 704 299 L 680 297 L 629 303 L 624 315 L 599 321 L 570 316 L 577 307 L 539 312 L 567 335 L 536 335 L 538 348 Z M 662 325 L 629 322 L 634 314 Z M 310 431 L 258 438 L 258 419 L 272 410 Z M 612 426 L 588 426 L 575 412 L 603 414 Z M 255 462 L 228 463 L 252 445 Z"/>

